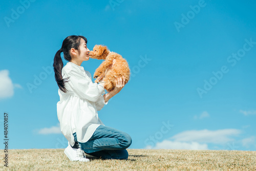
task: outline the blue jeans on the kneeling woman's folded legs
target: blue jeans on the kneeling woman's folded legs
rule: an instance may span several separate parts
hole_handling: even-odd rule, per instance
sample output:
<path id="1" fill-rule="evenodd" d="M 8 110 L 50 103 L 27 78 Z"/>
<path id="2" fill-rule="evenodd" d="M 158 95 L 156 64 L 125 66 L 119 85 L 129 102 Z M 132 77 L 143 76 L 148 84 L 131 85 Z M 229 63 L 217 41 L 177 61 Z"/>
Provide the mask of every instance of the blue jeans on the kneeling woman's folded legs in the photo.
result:
<path id="1" fill-rule="evenodd" d="M 76 133 L 73 134 L 77 142 Z M 128 148 L 132 143 L 129 134 L 109 126 L 99 125 L 87 142 L 78 142 L 79 147 L 91 156 L 102 159 L 128 159 Z"/>

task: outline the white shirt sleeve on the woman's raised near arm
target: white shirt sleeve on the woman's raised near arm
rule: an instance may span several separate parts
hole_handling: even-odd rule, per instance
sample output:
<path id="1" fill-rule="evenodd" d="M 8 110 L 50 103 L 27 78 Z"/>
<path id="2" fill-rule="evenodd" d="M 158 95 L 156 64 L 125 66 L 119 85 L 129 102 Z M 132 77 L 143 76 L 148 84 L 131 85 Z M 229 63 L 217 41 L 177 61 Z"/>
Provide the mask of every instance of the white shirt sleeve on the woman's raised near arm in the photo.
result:
<path id="1" fill-rule="evenodd" d="M 69 77 L 68 82 L 65 83 L 67 94 L 75 93 L 81 99 L 96 102 L 105 93 L 104 88 L 93 83 L 84 70 L 62 70 L 62 75 L 63 78 Z M 100 99 L 102 100 L 102 97 Z"/>

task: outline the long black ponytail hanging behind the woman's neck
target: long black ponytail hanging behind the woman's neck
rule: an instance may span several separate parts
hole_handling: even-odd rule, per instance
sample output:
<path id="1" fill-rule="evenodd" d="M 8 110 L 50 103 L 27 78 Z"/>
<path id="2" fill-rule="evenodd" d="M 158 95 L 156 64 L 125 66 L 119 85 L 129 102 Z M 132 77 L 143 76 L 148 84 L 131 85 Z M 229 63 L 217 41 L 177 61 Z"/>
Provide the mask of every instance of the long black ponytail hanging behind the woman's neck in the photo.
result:
<path id="1" fill-rule="evenodd" d="M 55 73 L 55 80 L 58 84 L 59 89 L 62 92 L 67 92 L 67 89 L 65 88 L 65 82 L 68 82 L 67 79 L 62 78 L 61 75 L 61 70 L 63 68 L 63 62 L 60 56 L 60 53 L 62 52 L 62 49 L 58 50 L 57 53 L 54 56 L 54 62 L 53 62 L 53 68 L 54 68 L 54 73 Z"/>

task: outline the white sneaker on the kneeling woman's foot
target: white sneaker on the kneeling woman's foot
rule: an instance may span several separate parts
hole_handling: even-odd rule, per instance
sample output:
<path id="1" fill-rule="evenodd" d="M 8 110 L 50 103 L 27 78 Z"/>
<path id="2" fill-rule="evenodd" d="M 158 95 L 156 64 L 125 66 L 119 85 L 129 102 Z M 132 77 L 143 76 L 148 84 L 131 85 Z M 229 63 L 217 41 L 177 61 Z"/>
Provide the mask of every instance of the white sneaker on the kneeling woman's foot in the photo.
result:
<path id="1" fill-rule="evenodd" d="M 68 156 L 68 158 L 71 161 L 90 161 L 89 159 L 86 158 L 86 154 L 84 154 L 84 151 L 82 151 L 80 148 L 72 148 L 71 145 L 68 145 L 68 147 L 65 148 L 64 153 Z"/>

